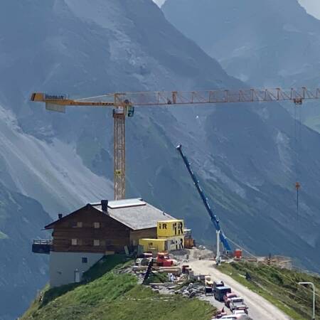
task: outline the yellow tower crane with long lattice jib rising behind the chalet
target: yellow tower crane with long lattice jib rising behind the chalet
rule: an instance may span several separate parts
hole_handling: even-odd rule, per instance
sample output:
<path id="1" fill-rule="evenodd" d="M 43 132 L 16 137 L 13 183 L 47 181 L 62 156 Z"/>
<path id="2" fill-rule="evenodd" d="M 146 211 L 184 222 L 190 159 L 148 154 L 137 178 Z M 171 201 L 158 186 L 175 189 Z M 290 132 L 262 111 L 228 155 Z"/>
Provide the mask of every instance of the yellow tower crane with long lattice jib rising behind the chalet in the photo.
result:
<path id="1" fill-rule="evenodd" d="M 33 102 L 45 102 L 46 110 L 65 112 L 65 107 L 90 106 L 112 107 L 114 118 L 114 199 L 125 198 L 125 118 L 134 115 L 134 106 L 174 106 L 204 105 L 230 102 L 274 102 L 292 101 L 302 105 L 303 100 L 320 99 L 320 89 L 282 90 L 244 89 L 244 90 L 206 90 L 206 91 L 170 91 L 170 92 L 124 92 L 110 93 L 97 97 L 78 100 L 66 95 L 48 95 L 35 92 L 31 95 Z M 296 185 L 297 186 L 297 185 Z M 300 186 L 300 185 L 299 185 Z M 297 192 L 298 192 L 297 188 Z"/>

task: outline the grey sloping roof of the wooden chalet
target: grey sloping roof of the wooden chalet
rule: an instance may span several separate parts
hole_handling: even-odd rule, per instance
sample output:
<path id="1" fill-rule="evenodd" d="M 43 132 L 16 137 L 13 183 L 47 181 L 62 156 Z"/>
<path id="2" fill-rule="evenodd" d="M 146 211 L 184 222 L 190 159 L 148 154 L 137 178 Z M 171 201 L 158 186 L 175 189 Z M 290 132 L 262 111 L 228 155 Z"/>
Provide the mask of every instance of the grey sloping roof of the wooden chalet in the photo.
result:
<path id="1" fill-rule="evenodd" d="M 101 203 L 93 203 L 92 206 L 103 212 Z M 139 198 L 110 201 L 106 214 L 132 230 L 155 228 L 158 221 L 175 219 Z"/>

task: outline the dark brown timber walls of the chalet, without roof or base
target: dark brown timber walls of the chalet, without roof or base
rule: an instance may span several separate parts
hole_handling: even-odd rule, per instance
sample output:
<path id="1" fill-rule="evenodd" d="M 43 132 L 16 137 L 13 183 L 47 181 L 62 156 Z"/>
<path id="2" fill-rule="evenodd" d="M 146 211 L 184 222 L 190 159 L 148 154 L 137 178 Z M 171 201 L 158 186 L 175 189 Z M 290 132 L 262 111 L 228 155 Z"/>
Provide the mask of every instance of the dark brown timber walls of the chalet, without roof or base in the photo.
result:
<path id="1" fill-rule="evenodd" d="M 97 228 L 98 227 L 98 228 Z M 156 228 L 132 230 L 88 205 L 46 226 L 53 229 L 52 251 L 124 252 L 140 238 L 156 238 Z"/>

